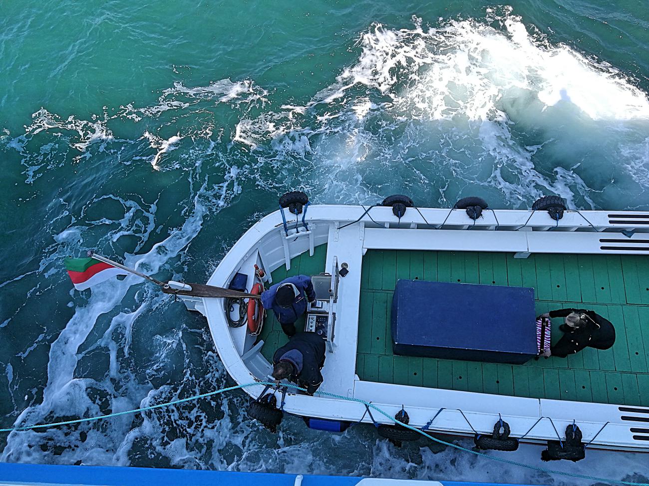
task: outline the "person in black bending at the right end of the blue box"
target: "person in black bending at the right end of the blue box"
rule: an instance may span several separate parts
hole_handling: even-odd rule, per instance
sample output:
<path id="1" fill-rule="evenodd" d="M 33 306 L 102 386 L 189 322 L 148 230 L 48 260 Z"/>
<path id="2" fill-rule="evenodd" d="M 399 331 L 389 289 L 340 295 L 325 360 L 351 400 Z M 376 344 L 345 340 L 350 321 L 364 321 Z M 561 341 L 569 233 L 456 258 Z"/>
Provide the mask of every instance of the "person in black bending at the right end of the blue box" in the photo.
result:
<path id="1" fill-rule="evenodd" d="M 545 313 L 543 316 L 565 317 L 565 324 L 559 326 L 559 329 L 565 334 L 556 345 L 550 348 L 550 354 L 557 358 L 565 358 L 588 346 L 596 349 L 608 349 L 615 343 L 613 324 L 594 311 L 559 309 Z"/>

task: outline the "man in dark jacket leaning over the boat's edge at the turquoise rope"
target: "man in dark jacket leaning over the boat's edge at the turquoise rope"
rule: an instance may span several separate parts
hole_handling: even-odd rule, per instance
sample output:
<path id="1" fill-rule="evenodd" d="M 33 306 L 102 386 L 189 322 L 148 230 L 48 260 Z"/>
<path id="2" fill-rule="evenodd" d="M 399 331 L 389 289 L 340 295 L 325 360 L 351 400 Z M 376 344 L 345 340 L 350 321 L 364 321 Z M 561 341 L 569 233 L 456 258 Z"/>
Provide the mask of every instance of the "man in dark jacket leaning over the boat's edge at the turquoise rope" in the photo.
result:
<path id="1" fill-rule="evenodd" d="M 313 395 L 323 382 L 324 339 L 315 332 L 299 332 L 273 356 L 273 378 L 306 388 Z"/>

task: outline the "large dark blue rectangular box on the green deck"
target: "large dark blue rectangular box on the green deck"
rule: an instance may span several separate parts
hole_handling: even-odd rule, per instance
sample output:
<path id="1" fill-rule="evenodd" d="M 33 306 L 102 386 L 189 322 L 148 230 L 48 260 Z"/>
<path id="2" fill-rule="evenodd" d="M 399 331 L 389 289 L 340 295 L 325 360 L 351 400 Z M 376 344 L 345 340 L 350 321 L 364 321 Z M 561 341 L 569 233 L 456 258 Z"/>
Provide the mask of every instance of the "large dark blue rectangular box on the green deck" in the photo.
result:
<path id="1" fill-rule="evenodd" d="M 534 289 L 398 280 L 394 354 L 521 364 L 537 356 Z"/>

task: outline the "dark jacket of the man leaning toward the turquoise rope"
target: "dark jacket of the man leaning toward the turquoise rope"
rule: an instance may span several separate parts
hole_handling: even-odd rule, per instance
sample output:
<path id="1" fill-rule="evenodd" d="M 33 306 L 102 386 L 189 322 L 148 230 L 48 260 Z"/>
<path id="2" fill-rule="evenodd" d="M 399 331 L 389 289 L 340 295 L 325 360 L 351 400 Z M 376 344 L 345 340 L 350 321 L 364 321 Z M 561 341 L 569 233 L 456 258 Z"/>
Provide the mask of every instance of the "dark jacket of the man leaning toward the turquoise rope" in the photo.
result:
<path id="1" fill-rule="evenodd" d="M 273 365 L 276 365 L 284 354 L 292 349 L 302 353 L 302 371 L 289 380 L 306 388 L 309 395 L 313 395 L 323 382 L 320 369 L 324 365 L 324 339 L 315 332 L 299 332 L 289 340 L 286 345 L 275 351 Z"/>

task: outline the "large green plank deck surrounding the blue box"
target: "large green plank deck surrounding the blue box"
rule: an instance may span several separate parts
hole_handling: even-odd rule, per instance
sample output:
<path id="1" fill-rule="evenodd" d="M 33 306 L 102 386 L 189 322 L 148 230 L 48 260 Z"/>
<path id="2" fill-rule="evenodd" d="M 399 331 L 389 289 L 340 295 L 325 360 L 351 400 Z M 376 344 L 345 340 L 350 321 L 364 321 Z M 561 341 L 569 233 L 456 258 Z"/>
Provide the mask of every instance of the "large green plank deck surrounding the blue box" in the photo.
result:
<path id="1" fill-rule="evenodd" d="M 273 278 L 275 275 L 273 274 Z M 534 287 L 537 313 L 589 308 L 615 325 L 613 348 L 525 365 L 394 356 L 390 306 L 399 278 Z M 554 321 L 552 341 L 561 337 Z M 634 255 L 369 250 L 361 274 L 356 373 L 361 380 L 649 406 L 649 258 Z"/>

